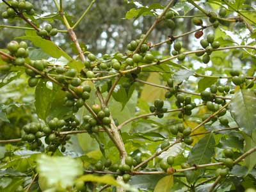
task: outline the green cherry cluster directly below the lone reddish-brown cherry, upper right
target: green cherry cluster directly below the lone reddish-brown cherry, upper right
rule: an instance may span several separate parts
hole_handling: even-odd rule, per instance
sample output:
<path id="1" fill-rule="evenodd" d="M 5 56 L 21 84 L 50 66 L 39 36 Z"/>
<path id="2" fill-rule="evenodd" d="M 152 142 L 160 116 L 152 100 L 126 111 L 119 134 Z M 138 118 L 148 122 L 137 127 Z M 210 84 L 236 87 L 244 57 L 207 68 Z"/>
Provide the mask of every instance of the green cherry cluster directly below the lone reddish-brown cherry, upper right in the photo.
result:
<path id="1" fill-rule="evenodd" d="M 200 40 L 200 44 L 202 45 L 202 47 L 204 49 L 200 49 L 200 50 L 204 50 L 205 52 L 196 52 L 196 56 L 203 56 L 202 61 L 206 64 L 209 63 L 210 61 L 210 55 L 213 51 L 213 49 L 218 49 L 220 47 L 220 42 L 216 42 L 214 41 L 214 35 L 213 34 L 209 34 L 207 35 L 206 39 L 202 39 Z"/>

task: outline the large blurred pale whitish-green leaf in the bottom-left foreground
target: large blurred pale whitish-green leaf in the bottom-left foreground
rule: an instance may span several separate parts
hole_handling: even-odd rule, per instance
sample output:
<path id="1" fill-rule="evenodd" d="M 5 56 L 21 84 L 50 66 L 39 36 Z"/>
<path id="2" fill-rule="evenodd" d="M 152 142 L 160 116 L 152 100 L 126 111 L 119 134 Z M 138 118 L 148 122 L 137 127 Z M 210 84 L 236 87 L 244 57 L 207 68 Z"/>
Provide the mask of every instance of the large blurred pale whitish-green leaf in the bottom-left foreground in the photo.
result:
<path id="1" fill-rule="evenodd" d="M 83 174 L 83 164 L 71 157 L 49 157 L 42 155 L 37 159 L 36 170 L 45 178 L 48 186 L 67 188 L 74 184 L 77 176 Z"/>

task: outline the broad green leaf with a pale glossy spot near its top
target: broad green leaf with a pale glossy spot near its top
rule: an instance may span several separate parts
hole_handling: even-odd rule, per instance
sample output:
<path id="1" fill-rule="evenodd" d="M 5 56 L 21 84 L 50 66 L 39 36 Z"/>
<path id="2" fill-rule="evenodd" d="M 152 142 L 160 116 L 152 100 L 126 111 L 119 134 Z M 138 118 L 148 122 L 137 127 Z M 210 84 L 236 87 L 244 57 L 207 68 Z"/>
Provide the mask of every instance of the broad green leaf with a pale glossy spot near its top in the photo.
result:
<path id="1" fill-rule="evenodd" d="M 36 86 L 35 107 L 37 115 L 46 120 L 47 117 L 62 118 L 70 113 L 70 108 L 64 105 L 65 92 L 60 86 L 52 84 L 52 90 L 47 88 L 47 81 L 41 79 Z"/>

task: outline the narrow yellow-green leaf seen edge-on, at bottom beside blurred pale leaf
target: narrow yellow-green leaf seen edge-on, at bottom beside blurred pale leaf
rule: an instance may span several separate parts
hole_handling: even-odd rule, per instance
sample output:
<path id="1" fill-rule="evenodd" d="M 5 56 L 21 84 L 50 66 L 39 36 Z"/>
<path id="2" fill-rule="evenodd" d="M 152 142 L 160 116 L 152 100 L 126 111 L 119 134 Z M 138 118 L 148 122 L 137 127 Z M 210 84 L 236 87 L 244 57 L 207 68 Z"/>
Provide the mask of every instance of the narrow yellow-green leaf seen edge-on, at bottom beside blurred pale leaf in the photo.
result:
<path id="1" fill-rule="evenodd" d="M 83 180 L 84 182 L 99 182 L 104 184 L 109 184 L 112 186 L 120 186 L 120 184 L 113 178 L 111 175 L 104 175 L 102 177 L 88 174 L 79 177 L 79 180 Z"/>

